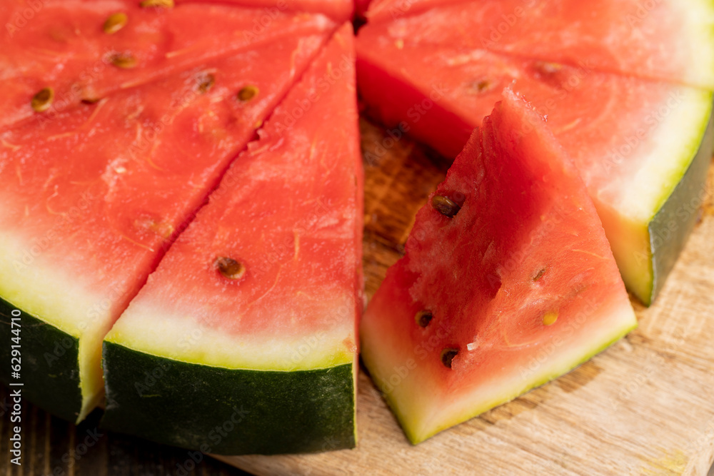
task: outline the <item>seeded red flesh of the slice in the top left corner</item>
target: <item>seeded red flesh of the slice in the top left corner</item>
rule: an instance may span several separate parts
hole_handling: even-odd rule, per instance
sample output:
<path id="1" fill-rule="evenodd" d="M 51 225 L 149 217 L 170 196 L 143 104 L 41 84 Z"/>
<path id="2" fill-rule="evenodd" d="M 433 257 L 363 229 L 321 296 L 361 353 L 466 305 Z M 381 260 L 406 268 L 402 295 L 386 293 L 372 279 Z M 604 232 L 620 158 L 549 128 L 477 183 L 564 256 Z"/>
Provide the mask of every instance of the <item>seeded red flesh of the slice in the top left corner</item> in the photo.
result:
<path id="1" fill-rule="evenodd" d="M 51 117 L 81 100 L 171 76 L 231 52 L 250 51 L 282 36 L 336 28 L 321 15 L 278 11 L 266 21 L 263 9 L 221 5 L 142 8 L 135 0 L 47 0 L 33 11 L 24 1 L 0 5 L 8 27 L 0 36 L 0 127 L 31 117 Z M 29 10 L 32 18 L 21 21 Z M 126 25 L 104 31 L 112 14 Z M 262 21 L 262 23 L 261 23 Z M 115 66 L 123 55 L 124 66 Z M 255 61 L 260 61 L 258 58 Z M 121 63 L 119 63 L 121 64 Z M 54 89 L 54 101 L 41 116 L 33 96 Z"/>

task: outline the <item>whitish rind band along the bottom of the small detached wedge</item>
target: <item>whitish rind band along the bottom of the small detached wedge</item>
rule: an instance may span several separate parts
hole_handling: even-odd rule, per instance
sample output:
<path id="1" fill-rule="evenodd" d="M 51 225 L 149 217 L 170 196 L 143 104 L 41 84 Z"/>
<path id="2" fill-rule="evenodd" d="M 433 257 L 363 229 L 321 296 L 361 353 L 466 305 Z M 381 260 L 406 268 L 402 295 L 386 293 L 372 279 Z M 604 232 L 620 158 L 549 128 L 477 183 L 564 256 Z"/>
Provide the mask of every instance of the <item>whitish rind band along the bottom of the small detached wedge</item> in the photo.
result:
<path id="1" fill-rule="evenodd" d="M 436 382 L 430 381 L 428 370 L 420 373 L 418 366 L 406 373 L 398 385 L 386 383 L 394 375 L 395 368 L 403 366 L 410 358 L 417 360 L 414 355 L 396 354 L 388 342 L 393 336 L 381 332 L 378 323 L 370 325 L 370 322 L 387 316 L 365 318 L 362 358 L 378 386 L 390 390 L 386 397 L 409 439 L 416 444 L 568 373 L 623 337 L 637 326 L 637 320 L 629 301 L 620 301 L 619 305 L 599 308 L 597 313 L 589 315 L 580 332 L 561 345 L 555 345 L 555 351 L 544 347 L 543 355 L 535 361 L 535 370 L 529 368 L 528 363 L 505 367 L 491 380 L 467 390 L 440 388 Z M 432 357 L 438 358 L 438 355 Z M 463 384 L 468 385 L 468 378 Z"/>

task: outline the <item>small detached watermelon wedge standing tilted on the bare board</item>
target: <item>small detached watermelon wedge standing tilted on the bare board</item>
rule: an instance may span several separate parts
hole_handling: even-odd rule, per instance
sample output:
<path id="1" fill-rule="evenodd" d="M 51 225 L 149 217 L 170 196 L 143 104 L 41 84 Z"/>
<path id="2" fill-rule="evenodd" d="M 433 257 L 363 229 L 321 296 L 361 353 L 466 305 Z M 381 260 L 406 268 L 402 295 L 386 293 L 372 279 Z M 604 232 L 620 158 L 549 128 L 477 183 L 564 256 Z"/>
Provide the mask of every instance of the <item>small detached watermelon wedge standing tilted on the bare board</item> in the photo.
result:
<path id="1" fill-rule="evenodd" d="M 413 443 L 637 325 L 578 171 L 532 107 L 504 92 L 363 316 L 363 361 Z"/>

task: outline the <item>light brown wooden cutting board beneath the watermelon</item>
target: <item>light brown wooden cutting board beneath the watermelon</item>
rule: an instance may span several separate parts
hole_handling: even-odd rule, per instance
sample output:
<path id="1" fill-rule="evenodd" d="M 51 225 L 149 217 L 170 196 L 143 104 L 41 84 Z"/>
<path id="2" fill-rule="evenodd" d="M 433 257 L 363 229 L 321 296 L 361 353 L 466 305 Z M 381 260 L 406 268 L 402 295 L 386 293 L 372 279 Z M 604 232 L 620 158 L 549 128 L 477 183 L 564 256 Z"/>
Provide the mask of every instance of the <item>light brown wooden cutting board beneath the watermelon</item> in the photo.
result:
<path id="1" fill-rule="evenodd" d="M 367 121 L 361 132 L 371 297 L 448 164 Z M 709 175 L 711 191 L 714 167 Z M 711 193 L 704 210 L 655 305 L 633 301 L 640 327 L 553 383 L 415 447 L 361 372 L 356 450 L 218 458 L 257 475 L 706 475 L 714 459 Z"/>

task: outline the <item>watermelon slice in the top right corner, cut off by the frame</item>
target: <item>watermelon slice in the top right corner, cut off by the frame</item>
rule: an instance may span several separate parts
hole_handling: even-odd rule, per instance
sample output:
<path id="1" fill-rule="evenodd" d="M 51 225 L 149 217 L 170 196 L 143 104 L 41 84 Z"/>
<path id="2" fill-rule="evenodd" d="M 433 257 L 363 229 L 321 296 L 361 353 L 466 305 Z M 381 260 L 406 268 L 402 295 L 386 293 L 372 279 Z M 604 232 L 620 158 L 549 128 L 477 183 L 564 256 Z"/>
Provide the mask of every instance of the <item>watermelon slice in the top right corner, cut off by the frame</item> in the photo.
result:
<path id="1" fill-rule="evenodd" d="M 367 16 L 423 44 L 714 88 L 710 0 L 376 0 Z"/>

